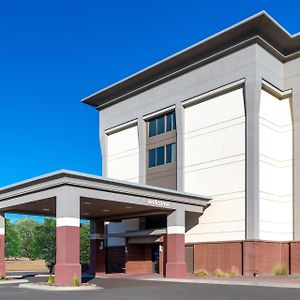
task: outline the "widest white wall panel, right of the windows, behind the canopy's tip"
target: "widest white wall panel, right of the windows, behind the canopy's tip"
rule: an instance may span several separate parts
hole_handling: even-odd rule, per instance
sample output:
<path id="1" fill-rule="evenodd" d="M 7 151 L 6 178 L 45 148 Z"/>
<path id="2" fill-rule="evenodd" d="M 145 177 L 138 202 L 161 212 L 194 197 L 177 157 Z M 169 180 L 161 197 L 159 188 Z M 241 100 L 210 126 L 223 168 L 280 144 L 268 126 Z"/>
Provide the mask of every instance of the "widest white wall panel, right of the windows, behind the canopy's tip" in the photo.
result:
<path id="1" fill-rule="evenodd" d="M 185 108 L 185 191 L 213 200 L 187 242 L 245 238 L 243 89 Z"/>

